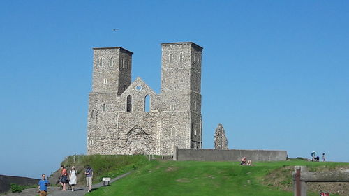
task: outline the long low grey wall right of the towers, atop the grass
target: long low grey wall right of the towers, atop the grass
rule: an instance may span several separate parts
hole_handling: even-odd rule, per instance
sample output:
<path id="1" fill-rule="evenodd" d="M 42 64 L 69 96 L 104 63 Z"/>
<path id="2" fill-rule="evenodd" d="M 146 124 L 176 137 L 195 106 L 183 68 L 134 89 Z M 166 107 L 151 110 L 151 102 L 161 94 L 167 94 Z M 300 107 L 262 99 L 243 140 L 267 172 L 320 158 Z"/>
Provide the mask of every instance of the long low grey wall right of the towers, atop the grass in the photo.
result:
<path id="1" fill-rule="evenodd" d="M 238 150 L 238 149 L 178 149 L 174 148 L 173 160 L 240 161 L 244 156 L 254 161 L 286 160 L 287 151 Z"/>

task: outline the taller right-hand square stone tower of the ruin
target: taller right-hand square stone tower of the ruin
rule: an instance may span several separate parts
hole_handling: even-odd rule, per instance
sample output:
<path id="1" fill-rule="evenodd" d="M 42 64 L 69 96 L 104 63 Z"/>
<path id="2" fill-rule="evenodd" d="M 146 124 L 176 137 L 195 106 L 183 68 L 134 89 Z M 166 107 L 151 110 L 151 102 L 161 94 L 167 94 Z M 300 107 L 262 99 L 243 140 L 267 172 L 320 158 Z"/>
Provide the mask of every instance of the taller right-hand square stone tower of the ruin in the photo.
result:
<path id="1" fill-rule="evenodd" d="M 201 53 L 195 43 L 162 44 L 161 95 L 170 110 L 189 116 L 181 127 L 189 128 L 186 148 L 201 148 Z"/>

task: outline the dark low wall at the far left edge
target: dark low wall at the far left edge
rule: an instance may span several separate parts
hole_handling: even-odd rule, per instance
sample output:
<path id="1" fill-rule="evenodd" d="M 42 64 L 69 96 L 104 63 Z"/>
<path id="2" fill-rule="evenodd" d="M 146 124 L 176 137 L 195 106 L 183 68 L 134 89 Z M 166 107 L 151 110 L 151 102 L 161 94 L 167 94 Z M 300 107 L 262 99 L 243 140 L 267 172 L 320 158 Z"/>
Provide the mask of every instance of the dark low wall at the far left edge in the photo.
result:
<path id="1" fill-rule="evenodd" d="M 4 193 L 10 190 L 11 183 L 24 186 L 24 185 L 37 185 L 39 181 L 40 179 L 0 175 L 0 193 Z"/>

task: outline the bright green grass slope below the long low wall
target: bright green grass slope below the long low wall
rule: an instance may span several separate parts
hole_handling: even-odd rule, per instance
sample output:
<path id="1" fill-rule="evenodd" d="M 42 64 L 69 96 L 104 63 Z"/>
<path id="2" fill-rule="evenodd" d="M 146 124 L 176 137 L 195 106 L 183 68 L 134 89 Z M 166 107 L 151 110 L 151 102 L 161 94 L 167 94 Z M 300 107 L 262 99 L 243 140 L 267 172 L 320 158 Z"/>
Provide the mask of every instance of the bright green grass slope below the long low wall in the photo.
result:
<path id="1" fill-rule="evenodd" d="M 151 161 L 133 174 L 98 188 L 88 196 L 103 195 L 233 195 L 233 196 L 292 196 L 290 190 L 268 183 L 272 172 L 281 167 L 307 165 L 311 170 L 318 166 L 349 165 L 349 163 L 311 163 L 303 160 L 255 163 L 241 166 L 231 162 L 175 162 Z M 283 186 L 292 186 L 291 174 L 281 176 Z M 285 177 L 286 176 L 286 177 Z M 318 193 L 309 193 L 315 196 Z"/>

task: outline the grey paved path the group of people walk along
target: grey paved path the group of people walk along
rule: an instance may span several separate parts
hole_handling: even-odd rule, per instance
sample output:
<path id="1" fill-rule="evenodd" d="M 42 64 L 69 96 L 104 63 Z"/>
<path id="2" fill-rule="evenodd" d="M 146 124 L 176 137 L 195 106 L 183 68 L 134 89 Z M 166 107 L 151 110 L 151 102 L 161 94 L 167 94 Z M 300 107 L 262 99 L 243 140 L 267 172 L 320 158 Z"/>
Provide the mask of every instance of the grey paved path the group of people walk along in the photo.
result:
<path id="1" fill-rule="evenodd" d="M 128 174 L 131 174 L 131 172 L 122 174 L 121 176 L 117 176 L 116 178 L 112 179 L 110 183 L 117 181 L 119 179 L 122 179 L 124 178 L 124 176 L 127 176 Z M 103 182 L 92 185 L 92 191 L 94 191 L 94 189 L 101 186 L 103 186 Z M 38 189 L 36 188 L 29 188 L 29 189 L 23 190 L 22 193 L 9 193 L 8 195 L 3 195 L 3 196 L 35 196 L 35 195 L 38 195 L 38 193 L 36 193 L 37 190 Z M 75 191 L 71 191 L 71 190 L 61 191 L 59 187 L 50 187 L 48 191 L 48 195 L 49 196 L 66 196 L 66 195 L 84 196 L 87 193 L 87 190 L 89 190 L 89 188 L 86 186 L 77 187 L 75 188 Z"/>

